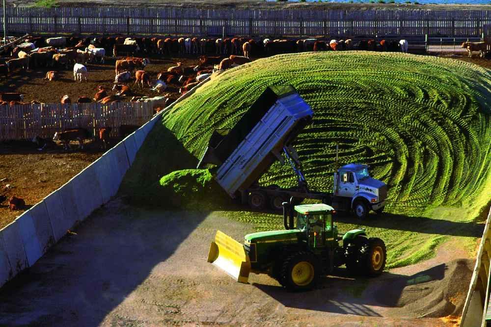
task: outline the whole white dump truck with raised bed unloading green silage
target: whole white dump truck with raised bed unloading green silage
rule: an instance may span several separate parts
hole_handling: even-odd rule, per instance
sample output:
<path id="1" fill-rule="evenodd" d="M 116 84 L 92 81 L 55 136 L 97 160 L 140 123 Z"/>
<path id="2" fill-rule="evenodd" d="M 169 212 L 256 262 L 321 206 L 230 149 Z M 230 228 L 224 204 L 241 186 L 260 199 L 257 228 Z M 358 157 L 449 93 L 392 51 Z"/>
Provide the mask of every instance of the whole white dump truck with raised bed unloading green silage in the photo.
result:
<path id="1" fill-rule="evenodd" d="M 313 115 L 293 86 L 270 86 L 235 126 L 213 132 L 197 168 L 217 165 L 218 184 L 230 197 L 255 210 L 269 203 L 280 211 L 282 203 L 293 197 L 297 203 L 316 199 L 336 210 L 353 210 L 359 218 L 366 218 L 370 210 L 381 213 L 387 201 L 387 185 L 371 177 L 367 165 L 351 163 L 337 169 L 332 193 L 310 190 L 292 142 L 311 123 Z M 276 160 L 291 165 L 298 180 L 296 187 L 259 184 Z"/>

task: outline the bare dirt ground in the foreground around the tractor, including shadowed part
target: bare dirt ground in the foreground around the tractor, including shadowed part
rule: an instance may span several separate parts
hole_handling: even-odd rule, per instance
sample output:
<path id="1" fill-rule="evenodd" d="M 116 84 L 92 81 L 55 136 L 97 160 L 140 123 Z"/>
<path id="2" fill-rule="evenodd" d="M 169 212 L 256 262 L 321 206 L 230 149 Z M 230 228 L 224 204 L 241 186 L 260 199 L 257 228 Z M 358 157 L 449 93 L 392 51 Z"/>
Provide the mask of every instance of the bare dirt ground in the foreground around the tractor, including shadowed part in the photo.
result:
<path id="1" fill-rule="evenodd" d="M 218 228 L 237 240 L 251 231 L 220 212 L 109 202 L 1 288 L 0 325 L 453 326 L 439 317 L 460 313 L 473 266 L 442 246 L 378 278 L 340 268 L 317 290 L 291 293 L 264 275 L 237 283 L 207 263 Z"/>

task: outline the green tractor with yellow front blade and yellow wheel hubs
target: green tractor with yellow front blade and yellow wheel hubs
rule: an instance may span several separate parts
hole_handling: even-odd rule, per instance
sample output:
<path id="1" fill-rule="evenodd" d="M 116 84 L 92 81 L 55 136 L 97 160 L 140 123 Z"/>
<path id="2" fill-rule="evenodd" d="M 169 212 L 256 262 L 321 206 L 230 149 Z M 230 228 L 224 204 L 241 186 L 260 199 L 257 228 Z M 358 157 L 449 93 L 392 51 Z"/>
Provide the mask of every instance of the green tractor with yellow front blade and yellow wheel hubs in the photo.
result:
<path id="1" fill-rule="evenodd" d="M 217 231 L 208 262 L 240 282 L 247 282 L 249 272 L 268 274 L 290 290 L 312 289 L 321 275 L 343 264 L 348 271 L 368 277 L 382 274 L 384 242 L 368 238 L 365 229 L 338 234 L 333 213 L 327 204 L 284 202 L 285 230 L 247 234 L 244 245 Z"/>

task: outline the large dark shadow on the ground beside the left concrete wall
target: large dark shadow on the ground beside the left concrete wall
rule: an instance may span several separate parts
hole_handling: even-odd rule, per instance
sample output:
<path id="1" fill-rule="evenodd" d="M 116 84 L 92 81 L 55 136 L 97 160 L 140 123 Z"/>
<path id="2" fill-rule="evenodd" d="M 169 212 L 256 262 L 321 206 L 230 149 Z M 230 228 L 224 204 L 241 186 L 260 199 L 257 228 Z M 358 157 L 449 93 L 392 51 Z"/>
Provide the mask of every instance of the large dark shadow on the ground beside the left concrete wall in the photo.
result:
<path id="1" fill-rule="evenodd" d="M 109 203 L 0 290 L 0 326 L 97 326 L 208 215 Z"/>

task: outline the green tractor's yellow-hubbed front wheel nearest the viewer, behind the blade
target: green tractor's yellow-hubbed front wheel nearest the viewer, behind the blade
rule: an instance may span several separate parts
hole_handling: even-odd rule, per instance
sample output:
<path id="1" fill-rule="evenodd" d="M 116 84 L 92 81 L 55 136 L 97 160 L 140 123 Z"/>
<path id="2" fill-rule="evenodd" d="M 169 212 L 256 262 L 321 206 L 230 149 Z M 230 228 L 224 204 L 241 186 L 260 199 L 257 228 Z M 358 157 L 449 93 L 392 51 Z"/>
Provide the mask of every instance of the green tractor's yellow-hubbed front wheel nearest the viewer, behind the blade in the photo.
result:
<path id="1" fill-rule="evenodd" d="M 281 267 L 280 284 L 291 291 L 307 291 L 315 287 L 321 267 L 310 252 L 300 251 L 288 256 Z"/>

